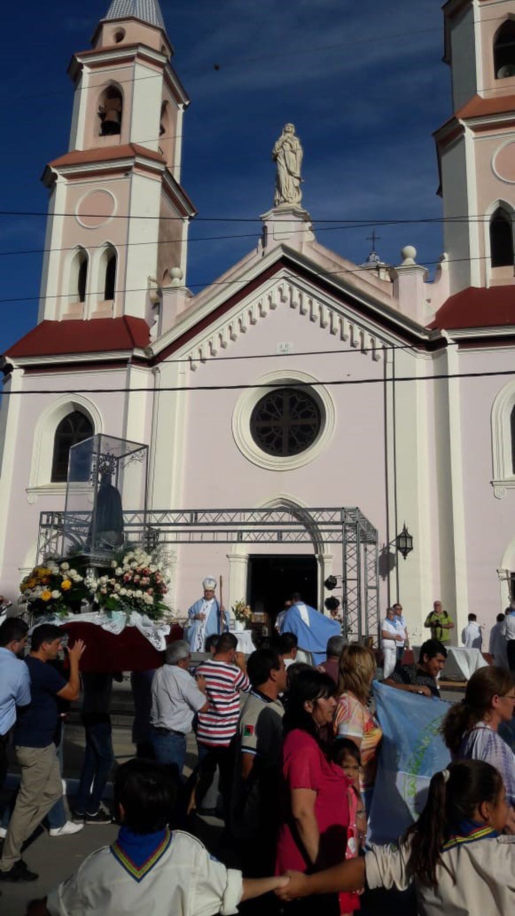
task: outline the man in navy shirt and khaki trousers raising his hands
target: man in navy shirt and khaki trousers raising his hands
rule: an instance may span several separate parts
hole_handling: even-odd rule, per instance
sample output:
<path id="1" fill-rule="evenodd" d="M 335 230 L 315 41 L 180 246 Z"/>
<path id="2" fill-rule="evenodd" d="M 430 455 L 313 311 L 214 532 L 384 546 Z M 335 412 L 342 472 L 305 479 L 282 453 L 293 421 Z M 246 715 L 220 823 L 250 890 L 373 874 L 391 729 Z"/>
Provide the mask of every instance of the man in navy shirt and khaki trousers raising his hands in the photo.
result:
<path id="1" fill-rule="evenodd" d="M 21 769 L 20 788 L 0 858 L 0 880 L 35 881 L 21 857 L 21 847 L 54 802 L 62 795 L 59 759 L 54 744 L 58 724 L 57 697 L 76 700 L 80 692 L 79 660 L 85 649 L 78 639 L 69 649 L 70 680 L 52 665 L 62 646 L 62 630 L 42 624 L 33 630 L 30 655 L 25 660 L 30 675 L 31 703 L 15 727 L 16 758 Z"/>

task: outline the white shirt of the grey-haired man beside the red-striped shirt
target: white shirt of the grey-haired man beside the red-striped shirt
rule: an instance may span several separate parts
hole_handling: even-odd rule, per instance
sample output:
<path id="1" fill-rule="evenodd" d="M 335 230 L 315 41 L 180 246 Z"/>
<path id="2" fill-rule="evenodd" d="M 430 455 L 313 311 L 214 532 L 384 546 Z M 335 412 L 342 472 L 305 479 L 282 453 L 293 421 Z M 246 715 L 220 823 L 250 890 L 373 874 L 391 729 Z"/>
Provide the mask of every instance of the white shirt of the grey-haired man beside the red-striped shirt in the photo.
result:
<path id="1" fill-rule="evenodd" d="M 152 679 L 150 721 L 156 728 L 188 735 L 193 716 L 206 703 L 195 678 L 178 665 L 163 665 Z"/>

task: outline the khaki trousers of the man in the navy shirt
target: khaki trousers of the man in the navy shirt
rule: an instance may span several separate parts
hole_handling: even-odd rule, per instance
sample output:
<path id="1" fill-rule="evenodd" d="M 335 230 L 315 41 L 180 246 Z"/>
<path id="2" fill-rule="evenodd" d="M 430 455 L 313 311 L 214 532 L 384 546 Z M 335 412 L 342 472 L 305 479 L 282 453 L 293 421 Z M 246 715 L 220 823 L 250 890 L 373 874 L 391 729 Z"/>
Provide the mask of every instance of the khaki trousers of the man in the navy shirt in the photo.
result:
<path id="1" fill-rule="evenodd" d="M 21 847 L 62 795 L 55 744 L 15 747 L 21 780 L 5 836 L 0 871 L 9 871 L 21 858 Z"/>

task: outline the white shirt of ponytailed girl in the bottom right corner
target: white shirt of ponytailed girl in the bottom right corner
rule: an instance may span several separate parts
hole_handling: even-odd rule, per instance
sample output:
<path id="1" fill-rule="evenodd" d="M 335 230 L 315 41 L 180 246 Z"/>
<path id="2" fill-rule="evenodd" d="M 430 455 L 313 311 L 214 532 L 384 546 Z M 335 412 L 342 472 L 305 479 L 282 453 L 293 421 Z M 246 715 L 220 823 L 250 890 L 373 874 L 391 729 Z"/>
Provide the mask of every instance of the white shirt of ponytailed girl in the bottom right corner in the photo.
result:
<path id="1" fill-rule="evenodd" d="M 418 916 L 509 916 L 515 912 L 515 836 L 477 840 L 442 853 L 451 874 L 436 867 L 436 889 L 415 881 Z M 374 846 L 365 856 L 370 889 L 405 890 L 412 883 L 405 846 Z"/>

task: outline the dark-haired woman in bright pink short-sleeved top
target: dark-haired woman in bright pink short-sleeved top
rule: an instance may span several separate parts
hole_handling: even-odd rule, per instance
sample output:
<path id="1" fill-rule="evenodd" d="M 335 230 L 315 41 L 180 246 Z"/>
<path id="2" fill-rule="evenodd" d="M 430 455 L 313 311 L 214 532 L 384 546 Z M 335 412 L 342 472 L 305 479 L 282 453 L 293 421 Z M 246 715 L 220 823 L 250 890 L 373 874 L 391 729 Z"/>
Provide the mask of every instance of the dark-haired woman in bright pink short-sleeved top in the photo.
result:
<path id="1" fill-rule="evenodd" d="M 301 671 L 292 685 L 284 715 L 284 812 L 275 860 L 278 875 L 289 868 L 317 871 L 345 857 L 351 780 L 329 759 L 324 740 L 335 712 L 334 691 L 331 678 L 314 669 Z M 295 916 L 310 910 L 309 900 L 295 904 Z M 338 894 L 329 895 L 324 916 L 338 913 Z"/>

